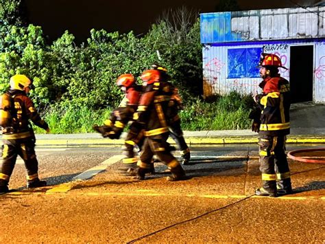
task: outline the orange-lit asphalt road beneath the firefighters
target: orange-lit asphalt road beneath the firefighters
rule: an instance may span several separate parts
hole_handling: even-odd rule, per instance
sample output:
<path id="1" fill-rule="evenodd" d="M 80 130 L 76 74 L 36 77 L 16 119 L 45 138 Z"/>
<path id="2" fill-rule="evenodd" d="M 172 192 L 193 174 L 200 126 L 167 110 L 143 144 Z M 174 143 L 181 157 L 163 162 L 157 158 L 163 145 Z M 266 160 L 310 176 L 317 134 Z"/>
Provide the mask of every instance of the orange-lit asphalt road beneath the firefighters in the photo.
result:
<path id="1" fill-rule="evenodd" d="M 288 149 L 302 147 L 321 146 Z M 295 193 L 274 199 L 253 196 L 261 184 L 256 145 L 191 152 L 192 164 L 184 166 L 191 179 L 167 182 L 160 163 L 144 181 L 121 174 L 119 146 L 36 148 L 40 175 L 51 186 L 23 189 L 18 162 L 10 181 L 16 191 L 0 196 L 0 242 L 324 243 L 324 164 L 290 159 Z"/>

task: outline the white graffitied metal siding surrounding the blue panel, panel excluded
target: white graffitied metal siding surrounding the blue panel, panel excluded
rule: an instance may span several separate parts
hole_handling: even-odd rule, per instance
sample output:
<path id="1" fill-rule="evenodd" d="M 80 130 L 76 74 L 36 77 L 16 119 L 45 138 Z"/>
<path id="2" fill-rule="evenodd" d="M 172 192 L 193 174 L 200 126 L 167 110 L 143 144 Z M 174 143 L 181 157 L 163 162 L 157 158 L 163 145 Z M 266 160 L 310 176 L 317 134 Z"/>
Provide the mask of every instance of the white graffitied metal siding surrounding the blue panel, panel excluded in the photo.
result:
<path id="1" fill-rule="evenodd" d="M 232 43 L 232 45 L 205 45 L 203 47 L 204 95 L 224 95 L 230 91 L 243 94 L 260 93 L 261 78 L 228 78 L 228 49 L 263 48 L 264 52 L 280 56 L 286 69 L 279 69 L 280 75 L 289 80 L 290 46 L 314 44 L 314 102 L 325 102 L 325 40 L 267 41 L 260 43 Z M 257 65 L 257 63 L 256 63 Z"/>

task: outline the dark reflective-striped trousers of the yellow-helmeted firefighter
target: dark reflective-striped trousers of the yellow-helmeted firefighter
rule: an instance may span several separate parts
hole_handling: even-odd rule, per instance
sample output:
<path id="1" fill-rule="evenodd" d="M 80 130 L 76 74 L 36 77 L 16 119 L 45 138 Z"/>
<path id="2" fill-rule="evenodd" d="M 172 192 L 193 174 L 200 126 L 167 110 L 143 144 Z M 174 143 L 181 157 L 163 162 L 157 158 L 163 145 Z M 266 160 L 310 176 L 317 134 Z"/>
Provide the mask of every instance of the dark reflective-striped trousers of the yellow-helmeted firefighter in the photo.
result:
<path id="1" fill-rule="evenodd" d="M 35 143 L 32 137 L 16 140 L 3 140 L 2 164 L 0 168 L 0 186 L 8 185 L 16 164 L 17 155 L 25 162 L 27 181 L 38 180 L 38 161 L 35 154 Z"/>

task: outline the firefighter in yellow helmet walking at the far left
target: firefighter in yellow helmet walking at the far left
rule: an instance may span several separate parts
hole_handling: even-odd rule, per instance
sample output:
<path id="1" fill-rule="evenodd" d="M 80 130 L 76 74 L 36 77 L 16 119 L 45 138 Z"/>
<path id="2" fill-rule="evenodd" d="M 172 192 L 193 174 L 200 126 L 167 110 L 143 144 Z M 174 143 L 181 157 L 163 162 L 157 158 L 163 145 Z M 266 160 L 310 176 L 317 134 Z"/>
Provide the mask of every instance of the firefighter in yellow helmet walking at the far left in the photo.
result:
<path id="1" fill-rule="evenodd" d="M 27 170 L 27 188 L 46 186 L 38 177 L 35 155 L 35 135 L 29 120 L 49 133 L 49 126 L 40 118 L 34 104 L 27 97 L 32 80 L 22 74 L 10 78 L 10 89 L 1 96 L 0 122 L 2 129 L 2 165 L 0 168 L 0 193 L 8 192 L 8 183 L 17 155 L 23 158 Z"/>

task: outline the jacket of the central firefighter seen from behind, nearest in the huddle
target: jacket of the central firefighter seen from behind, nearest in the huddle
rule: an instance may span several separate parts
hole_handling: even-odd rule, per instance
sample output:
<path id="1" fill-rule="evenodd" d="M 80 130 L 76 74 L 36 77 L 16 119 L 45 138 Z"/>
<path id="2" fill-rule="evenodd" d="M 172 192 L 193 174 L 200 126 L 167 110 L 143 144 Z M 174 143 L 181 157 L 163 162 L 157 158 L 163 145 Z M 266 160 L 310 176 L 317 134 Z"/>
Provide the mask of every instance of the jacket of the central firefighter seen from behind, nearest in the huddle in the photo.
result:
<path id="1" fill-rule="evenodd" d="M 144 88 L 134 119 L 143 124 L 145 136 L 169 131 L 169 102 L 173 95 L 170 82 L 154 82 Z"/>

